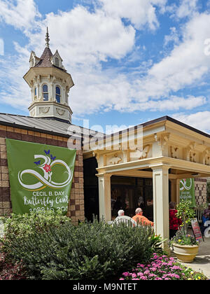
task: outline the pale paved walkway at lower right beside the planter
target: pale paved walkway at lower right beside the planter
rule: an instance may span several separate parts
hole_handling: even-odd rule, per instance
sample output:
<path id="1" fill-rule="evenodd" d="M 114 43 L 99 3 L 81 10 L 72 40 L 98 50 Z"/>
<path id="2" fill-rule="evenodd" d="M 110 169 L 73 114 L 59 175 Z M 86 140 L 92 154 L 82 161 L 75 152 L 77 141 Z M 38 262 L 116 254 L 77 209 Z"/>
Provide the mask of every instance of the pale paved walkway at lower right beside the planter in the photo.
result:
<path id="1" fill-rule="evenodd" d="M 203 272 L 210 279 L 210 238 L 201 241 L 198 254 L 193 262 L 183 263 L 196 272 Z"/>

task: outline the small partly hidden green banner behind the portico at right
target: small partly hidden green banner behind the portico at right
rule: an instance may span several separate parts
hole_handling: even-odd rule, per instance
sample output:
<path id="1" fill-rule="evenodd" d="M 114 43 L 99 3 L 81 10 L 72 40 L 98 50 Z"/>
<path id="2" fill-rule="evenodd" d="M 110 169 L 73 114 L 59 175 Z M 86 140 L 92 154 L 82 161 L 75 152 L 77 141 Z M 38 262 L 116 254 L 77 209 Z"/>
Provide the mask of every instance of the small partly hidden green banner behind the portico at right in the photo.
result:
<path id="1" fill-rule="evenodd" d="M 180 181 L 180 200 L 190 200 L 195 207 L 195 183 L 194 179 L 182 179 Z"/>

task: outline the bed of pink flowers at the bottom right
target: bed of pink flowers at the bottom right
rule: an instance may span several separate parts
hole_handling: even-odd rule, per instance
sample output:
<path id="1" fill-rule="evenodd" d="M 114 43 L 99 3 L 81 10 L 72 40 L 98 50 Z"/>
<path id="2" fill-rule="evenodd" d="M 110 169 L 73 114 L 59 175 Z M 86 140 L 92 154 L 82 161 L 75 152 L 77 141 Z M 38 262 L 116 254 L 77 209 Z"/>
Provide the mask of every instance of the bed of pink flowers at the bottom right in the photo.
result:
<path id="1" fill-rule="evenodd" d="M 137 264 L 132 272 L 123 272 L 120 280 L 207 280 L 207 277 L 184 267 L 174 258 L 154 253 L 150 263 Z"/>

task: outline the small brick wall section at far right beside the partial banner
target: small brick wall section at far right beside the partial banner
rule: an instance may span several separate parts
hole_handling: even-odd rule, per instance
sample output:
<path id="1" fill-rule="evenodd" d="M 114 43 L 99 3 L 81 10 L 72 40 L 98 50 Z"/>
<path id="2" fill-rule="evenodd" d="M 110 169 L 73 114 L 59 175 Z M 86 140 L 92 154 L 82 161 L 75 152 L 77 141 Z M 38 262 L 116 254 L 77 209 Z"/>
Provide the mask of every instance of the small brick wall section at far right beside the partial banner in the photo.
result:
<path id="1" fill-rule="evenodd" d="M 195 202 L 197 207 L 207 203 L 207 179 L 195 179 Z"/>

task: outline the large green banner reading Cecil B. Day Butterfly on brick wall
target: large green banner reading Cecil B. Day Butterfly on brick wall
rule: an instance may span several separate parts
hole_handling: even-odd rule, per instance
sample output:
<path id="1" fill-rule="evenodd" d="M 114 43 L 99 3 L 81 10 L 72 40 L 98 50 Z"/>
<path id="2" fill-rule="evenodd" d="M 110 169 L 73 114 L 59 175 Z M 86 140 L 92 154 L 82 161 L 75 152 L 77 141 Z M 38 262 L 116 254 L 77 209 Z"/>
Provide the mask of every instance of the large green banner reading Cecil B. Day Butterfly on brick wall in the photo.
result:
<path id="1" fill-rule="evenodd" d="M 66 214 L 76 150 L 6 139 L 13 213 Z"/>

